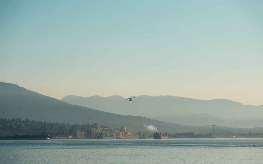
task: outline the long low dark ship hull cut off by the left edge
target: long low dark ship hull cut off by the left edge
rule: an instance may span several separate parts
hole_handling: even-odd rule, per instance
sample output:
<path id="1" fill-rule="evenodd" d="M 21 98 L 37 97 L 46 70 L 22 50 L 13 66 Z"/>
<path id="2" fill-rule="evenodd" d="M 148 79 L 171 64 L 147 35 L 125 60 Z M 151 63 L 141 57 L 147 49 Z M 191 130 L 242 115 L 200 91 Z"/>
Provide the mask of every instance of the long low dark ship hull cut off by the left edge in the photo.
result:
<path id="1" fill-rule="evenodd" d="M 49 140 L 49 135 L 10 135 L 10 136 L 0 136 L 0 140 Z"/>

